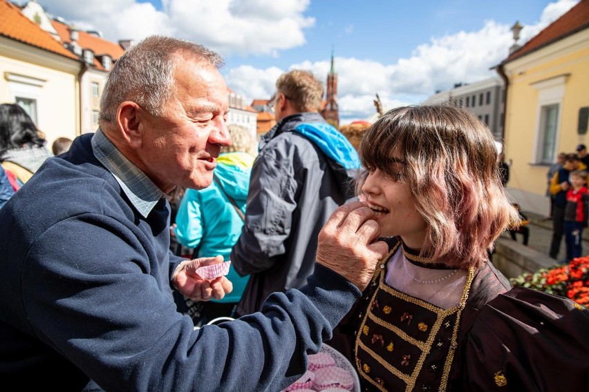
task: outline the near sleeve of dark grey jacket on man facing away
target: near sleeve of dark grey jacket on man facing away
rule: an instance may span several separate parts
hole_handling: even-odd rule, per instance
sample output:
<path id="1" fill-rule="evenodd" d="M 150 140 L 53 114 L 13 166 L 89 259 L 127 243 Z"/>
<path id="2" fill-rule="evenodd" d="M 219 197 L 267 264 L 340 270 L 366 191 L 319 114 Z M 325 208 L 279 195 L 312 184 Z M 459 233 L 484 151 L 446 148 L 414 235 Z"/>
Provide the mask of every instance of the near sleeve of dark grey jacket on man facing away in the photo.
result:
<path id="1" fill-rule="evenodd" d="M 297 208 L 298 185 L 288 145 L 276 139 L 272 142 L 272 148 L 262 150 L 252 167 L 245 224 L 231 253 L 242 276 L 272 268 L 286 253 L 284 242 Z"/>

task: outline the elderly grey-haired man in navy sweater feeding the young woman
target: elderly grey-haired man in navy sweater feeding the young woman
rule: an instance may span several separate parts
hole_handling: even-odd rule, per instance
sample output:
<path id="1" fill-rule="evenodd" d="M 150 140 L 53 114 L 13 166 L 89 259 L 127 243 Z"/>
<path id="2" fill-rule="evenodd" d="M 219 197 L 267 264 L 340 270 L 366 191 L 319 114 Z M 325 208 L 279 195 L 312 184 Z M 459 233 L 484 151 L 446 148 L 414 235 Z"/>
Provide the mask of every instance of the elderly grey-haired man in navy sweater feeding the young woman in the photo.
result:
<path id="1" fill-rule="evenodd" d="M 149 37 L 115 63 L 100 129 L 48 159 L 0 209 L 0 378 L 24 390 L 279 391 L 306 370 L 386 252 L 373 213 L 339 208 L 319 235 L 315 274 L 261 313 L 194 330 L 170 282 L 222 298 L 225 277 L 169 251 L 175 186 L 212 182 L 225 126 L 221 59 Z M 171 268 L 170 268 L 171 267 Z M 247 366 L 243 366 L 247 363 Z"/>

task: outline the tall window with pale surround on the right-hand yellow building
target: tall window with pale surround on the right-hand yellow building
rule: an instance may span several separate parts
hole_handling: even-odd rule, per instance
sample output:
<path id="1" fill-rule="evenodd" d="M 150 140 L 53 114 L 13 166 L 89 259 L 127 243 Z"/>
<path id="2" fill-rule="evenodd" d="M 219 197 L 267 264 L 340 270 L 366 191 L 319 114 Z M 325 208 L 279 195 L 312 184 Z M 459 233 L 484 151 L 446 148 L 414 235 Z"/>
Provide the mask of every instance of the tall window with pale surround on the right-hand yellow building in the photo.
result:
<path id="1" fill-rule="evenodd" d="M 562 115 L 562 101 L 565 94 L 565 84 L 568 75 L 559 75 L 551 79 L 538 81 L 532 84 L 539 92 L 536 104 L 536 126 L 534 127 L 534 150 L 532 163 L 552 164 L 557 154 L 557 141 L 559 140 Z M 548 108 L 557 108 L 557 117 L 554 124 L 554 134 L 546 135 L 546 113 Z M 550 137 L 550 140 L 546 138 Z M 545 152 L 548 148 L 548 152 Z"/>

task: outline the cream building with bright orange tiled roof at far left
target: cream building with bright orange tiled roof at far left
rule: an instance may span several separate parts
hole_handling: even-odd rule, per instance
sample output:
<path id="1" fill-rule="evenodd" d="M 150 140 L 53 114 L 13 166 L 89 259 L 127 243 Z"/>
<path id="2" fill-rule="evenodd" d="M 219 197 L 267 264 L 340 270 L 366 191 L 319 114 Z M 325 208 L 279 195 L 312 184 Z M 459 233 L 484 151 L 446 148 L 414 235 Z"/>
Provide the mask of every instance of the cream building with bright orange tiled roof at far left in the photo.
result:
<path id="1" fill-rule="evenodd" d="M 79 135 L 81 63 L 61 43 L 0 0 L 0 103 L 17 103 L 44 133 L 48 147 L 57 137 Z"/>

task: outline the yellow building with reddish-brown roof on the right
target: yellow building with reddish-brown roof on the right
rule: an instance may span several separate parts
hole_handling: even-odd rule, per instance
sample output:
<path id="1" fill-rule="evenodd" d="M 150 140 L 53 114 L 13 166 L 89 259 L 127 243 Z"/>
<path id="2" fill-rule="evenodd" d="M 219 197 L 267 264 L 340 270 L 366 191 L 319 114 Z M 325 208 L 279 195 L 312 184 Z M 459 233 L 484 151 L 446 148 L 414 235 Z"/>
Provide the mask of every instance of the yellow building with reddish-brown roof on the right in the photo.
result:
<path id="1" fill-rule="evenodd" d="M 514 50 L 497 70 L 507 94 L 507 190 L 523 210 L 548 216 L 550 165 L 560 152 L 589 144 L 589 0 Z"/>

